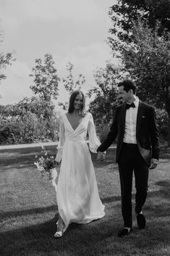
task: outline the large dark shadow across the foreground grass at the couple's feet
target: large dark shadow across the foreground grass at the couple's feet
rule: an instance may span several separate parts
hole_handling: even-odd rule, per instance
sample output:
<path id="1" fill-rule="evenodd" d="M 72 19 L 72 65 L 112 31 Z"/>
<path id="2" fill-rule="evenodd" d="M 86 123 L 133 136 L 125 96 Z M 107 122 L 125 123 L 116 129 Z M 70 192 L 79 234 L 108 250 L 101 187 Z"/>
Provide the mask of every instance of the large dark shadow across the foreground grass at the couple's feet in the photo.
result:
<path id="1" fill-rule="evenodd" d="M 158 214 L 156 218 L 160 216 Z M 122 239 L 116 237 L 120 228 L 117 217 L 113 216 L 112 220 L 103 218 L 102 220 L 93 221 L 93 223 L 88 225 L 72 223 L 67 229 L 66 234 L 59 239 L 54 238 L 56 220 L 55 216 L 52 220 L 39 225 L 2 232 L 0 238 L 1 255 L 93 256 L 112 255 L 112 253 L 113 255 L 124 255 L 125 251 L 126 255 L 131 255 L 131 250 L 134 247 L 135 249 L 147 251 L 148 249 L 162 246 L 162 244 L 163 246 L 169 245 L 169 238 L 163 236 L 163 232 L 168 234 L 169 227 L 163 220 L 159 221 L 158 228 L 153 226 L 152 223 L 150 225 L 151 228 L 145 228 L 145 231 L 134 228 L 132 234 L 124 238 L 123 244 Z M 151 221 L 154 223 L 154 218 Z"/>

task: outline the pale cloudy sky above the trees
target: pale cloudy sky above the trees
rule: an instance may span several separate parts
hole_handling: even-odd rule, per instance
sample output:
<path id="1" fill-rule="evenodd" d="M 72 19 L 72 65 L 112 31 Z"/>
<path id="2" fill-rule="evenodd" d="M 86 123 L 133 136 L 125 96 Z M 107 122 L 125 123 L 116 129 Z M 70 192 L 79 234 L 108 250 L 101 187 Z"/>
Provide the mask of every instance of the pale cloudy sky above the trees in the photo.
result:
<path id="1" fill-rule="evenodd" d="M 75 66 L 75 80 L 85 75 L 84 91 L 95 86 L 93 71 L 112 60 L 106 44 L 111 28 L 108 12 L 116 0 L 0 0 L 0 29 L 4 40 L 0 52 L 14 51 L 16 61 L 4 70 L 0 84 L 0 104 L 14 104 L 33 96 L 29 88 L 36 58 L 50 53 L 60 78 L 66 66 Z M 68 100 L 62 84 L 59 99 Z M 57 104 L 56 102 L 56 104 Z"/>

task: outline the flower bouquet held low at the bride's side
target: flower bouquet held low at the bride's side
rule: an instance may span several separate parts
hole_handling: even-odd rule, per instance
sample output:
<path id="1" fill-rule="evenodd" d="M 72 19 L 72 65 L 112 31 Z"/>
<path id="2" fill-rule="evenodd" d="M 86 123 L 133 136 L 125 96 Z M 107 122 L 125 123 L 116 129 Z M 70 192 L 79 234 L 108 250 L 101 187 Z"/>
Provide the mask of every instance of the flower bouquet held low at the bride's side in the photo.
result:
<path id="1" fill-rule="evenodd" d="M 46 148 L 44 146 L 41 146 L 42 148 L 42 154 L 41 157 L 38 158 L 38 155 L 35 155 L 35 159 L 37 162 L 34 162 L 34 165 L 36 165 L 37 169 L 41 172 L 41 176 L 43 177 L 46 173 L 48 173 L 49 180 L 56 179 L 55 176 L 57 176 L 56 173 L 56 160 L 55 157 L 48 157 L 48 153 L 46 152 Z M 55 173 L 53 170 L 55 169 Z"/>

